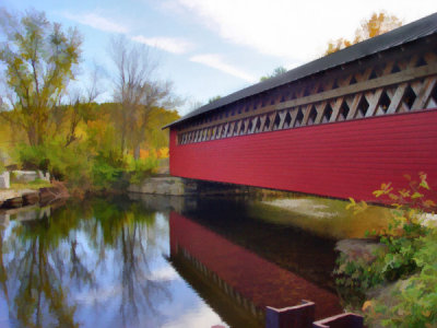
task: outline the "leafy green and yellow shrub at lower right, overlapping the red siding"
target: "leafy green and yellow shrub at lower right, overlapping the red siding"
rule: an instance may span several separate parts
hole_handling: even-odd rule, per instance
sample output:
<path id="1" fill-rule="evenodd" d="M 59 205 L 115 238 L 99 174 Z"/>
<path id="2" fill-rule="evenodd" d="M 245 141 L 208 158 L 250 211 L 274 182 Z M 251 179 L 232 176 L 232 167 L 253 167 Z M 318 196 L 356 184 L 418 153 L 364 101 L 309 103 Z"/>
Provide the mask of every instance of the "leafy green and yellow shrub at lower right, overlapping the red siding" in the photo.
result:
<path id="1" fill-rule="evenodd" d="M 405 176 L 409 187 L 393 190 L 391 184 L 382 184 L 374 191 L 376 197 L 392 200 L 392 218 L 387 230 L 374 232 L 387 251 L 375 254 L 370 263 L 350 261 L 342 256 L 335 270 L 342 289 L 353 289 L 365 295 L 375 286 L 395 282 L 391 286 L 390 305 L 382 296 L 364 302 L 363 309 L 368 324 L 397 327 L 434 327 L 437 324 L 437 230 L 424 224 L 425 212 L 433 212 L 436 203 L 426 174 L 418 180 Z M 365 210 L 363 203 L 351 201 L 355 212 Z M 364 301 L 364 300 L 362 300 Z"/>

